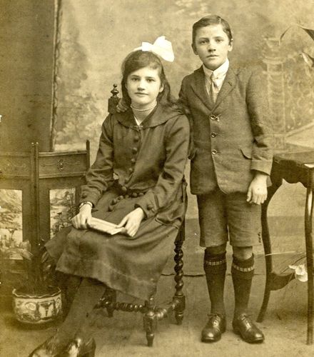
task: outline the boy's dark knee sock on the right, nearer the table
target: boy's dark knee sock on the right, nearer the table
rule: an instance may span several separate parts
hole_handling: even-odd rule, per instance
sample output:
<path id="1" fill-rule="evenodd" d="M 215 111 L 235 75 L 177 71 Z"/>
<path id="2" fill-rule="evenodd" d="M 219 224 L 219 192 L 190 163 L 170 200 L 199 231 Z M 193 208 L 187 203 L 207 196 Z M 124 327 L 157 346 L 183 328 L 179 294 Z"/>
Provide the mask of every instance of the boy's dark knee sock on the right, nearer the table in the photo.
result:
<path id="1" fill-rule="evenodd" d="M 240 261 L 233 256 L 231 267 L 231 276 L 233 280 L 234 296 L 235 296 L 235 312 L 234 316 L 239 316 L 241 313 L 247 313 L 248 301 L 250 298 L 250 287 L 254 275 L 254 256 L 245 261 Z"/>

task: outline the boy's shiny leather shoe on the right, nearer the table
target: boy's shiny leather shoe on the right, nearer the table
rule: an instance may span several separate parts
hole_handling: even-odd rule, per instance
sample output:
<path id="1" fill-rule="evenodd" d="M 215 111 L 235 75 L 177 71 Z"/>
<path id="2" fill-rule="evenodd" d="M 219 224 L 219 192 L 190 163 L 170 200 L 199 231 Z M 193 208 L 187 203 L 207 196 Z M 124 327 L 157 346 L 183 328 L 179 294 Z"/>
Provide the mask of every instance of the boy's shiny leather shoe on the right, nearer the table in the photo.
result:
<path id="1" fill-rule="evenodd" d="M 238 333 L 245 342 L 260 343 L 264 341 L 263 332 L 255 326 L 255 323 L 253 323 L 246 313 L 241 313 L 234 318 L 232 326 L 233 331 Z"/>

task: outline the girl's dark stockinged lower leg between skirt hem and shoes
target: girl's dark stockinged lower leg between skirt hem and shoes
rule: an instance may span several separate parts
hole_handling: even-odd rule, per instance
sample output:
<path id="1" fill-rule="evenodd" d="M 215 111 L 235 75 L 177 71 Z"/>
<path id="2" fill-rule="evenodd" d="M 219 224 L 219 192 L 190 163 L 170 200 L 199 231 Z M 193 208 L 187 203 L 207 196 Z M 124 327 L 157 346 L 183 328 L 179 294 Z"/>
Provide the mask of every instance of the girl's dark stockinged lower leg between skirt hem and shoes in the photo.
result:
<path id="1" fill-rule="evenodd" d="M 59 340 L 68 343 L 74 338 L 105 291 L 106 286 L 103 283 L 94 279 L 83 278 L 81 285 L 78 286 L 69 313 L 57 332 Z"/>

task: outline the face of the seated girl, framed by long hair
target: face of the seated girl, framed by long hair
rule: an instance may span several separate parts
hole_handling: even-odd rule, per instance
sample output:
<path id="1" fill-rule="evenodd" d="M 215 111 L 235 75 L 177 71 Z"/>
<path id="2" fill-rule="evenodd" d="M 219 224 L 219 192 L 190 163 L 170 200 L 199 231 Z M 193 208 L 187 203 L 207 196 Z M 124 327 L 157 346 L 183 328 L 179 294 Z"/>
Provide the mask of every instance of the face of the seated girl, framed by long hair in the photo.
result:
<path id="1" fill-rule="evenodd" d="M 126 80 L 126 90 L 137 109 L 150 108 L 163 91 L 158 69 L 143 67 L 133 71 Z"/>

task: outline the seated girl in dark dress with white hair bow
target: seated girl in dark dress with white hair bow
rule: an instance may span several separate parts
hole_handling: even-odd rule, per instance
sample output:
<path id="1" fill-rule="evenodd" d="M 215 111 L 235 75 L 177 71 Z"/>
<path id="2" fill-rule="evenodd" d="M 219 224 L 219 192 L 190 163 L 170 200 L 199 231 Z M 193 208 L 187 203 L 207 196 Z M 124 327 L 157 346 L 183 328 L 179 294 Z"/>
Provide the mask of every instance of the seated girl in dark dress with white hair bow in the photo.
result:
<path id="1" fill-rule="evenodd" d="M 171 99 L 158 51 L 141 47 L 123 61 L 121 89 L 130 106 L 103 121 L 74 228 L 46 244 L 57 271 L 83 279 L 59 331 L 30 356 L 93 356 L 86 316 L 106 286 L 141 299 L 156 291 L 186 213 L 189 142 L 188 119 Z M 161 49 L 167 59 L 164 54 Z M 111 236 L 91 229 L 92 216 L 123 232 Z"/>

